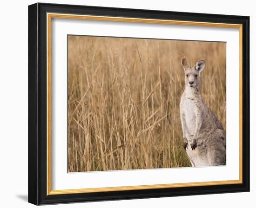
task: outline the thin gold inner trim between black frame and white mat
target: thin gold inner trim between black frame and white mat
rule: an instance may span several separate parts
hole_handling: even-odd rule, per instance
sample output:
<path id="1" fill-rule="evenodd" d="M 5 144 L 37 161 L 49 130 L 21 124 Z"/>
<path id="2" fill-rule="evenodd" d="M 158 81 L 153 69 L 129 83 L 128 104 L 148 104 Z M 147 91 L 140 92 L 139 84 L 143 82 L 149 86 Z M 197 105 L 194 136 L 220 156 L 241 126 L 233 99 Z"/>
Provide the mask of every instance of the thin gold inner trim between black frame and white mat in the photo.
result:
<path id="1" fill-rule="evenodd" d="M 77 20 L 100 20 L 100 21 L 119 21 L 119 22 L 138 22 L 138 23 L 155 23 L 155 24 L 171 24 L 185 26 L 212 26 L 212 27 L 228 27 L 239 28 L 239 180 L 214 181 L 214 182 L 188 182 L 188 183 L 171 183 L 157 185 L 141 185 L 141 186 L 122 186 L 107 188 L 88 188 L 88 189 L 65 189 L 52 190 L 52 170 L 51 170 L 51 23 L 53 18 L 61 19 L 77 19 Z M 93 193 L 105 191 L 124 191 L 124 190 L 143 190 L 143 189 L 163 189 L 178 188 L 192 186 L 210 186 L 210 185 L 226 185 L 243 183 L 243 25 L 225 24 L 214 22 L 195 22 L 180 20 L 157 20 L 142 18 L 123 18 L 108 16 L 91 16 L 91 15 L 75 15 L 64 13 L 47 13 L 47 195 L 60 194 L 78 194 Z"/>

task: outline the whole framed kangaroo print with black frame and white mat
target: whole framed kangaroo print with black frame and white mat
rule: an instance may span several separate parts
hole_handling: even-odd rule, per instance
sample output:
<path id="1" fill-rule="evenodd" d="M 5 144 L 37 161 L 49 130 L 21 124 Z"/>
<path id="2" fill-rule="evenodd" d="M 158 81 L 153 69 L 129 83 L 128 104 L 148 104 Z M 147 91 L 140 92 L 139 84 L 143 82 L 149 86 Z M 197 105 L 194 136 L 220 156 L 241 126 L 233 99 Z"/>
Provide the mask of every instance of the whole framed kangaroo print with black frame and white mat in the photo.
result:
<path id="1" fill-rule="evenodd" d="M 28 201 L 249 191 L 249 17 L 28 7 Z"/>

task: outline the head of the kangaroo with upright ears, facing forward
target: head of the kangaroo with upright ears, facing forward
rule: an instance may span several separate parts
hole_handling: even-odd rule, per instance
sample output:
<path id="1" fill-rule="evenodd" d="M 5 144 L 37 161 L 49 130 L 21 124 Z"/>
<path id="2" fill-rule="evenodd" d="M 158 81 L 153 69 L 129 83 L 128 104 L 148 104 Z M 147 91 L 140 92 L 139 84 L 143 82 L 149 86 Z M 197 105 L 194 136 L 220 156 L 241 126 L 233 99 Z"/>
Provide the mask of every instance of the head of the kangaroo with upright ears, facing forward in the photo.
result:
<path id="1" fill-rule="evenodd" d="M 190 67 L 186 58 L 182 58 L 182 67 L 185 72 L 185 86 L 199 88 L 201 84 L 200 73 L 205 66 L 205 61 L 197 61 L 195 66 Z"/>

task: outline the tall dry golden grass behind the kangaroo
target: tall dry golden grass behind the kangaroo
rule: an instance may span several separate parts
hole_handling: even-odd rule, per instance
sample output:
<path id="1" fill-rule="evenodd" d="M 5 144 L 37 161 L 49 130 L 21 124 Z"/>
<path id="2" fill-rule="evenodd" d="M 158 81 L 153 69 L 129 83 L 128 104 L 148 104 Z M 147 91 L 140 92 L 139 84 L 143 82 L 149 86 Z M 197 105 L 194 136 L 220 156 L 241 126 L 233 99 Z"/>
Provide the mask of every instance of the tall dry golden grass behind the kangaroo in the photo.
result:
<path id="1" fill-rule="evenodd" d="M 68 171 L 189 167 L 181 58 L 226 125 L 225 43 L 68 36 Z"/>

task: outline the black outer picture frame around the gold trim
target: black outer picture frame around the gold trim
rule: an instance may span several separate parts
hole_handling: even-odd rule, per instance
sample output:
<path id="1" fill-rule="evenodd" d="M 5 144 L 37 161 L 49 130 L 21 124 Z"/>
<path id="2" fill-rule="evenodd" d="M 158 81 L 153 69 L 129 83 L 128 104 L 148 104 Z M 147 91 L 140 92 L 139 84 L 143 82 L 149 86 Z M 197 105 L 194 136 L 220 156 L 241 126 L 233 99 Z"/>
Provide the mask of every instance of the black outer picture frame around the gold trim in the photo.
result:
<path id="1" fill-rule="evenodd" d="M 47 195 L 47 13 L 243 25 L 243 183 Z M 249 17 L 36 3 L 28 6 L 28 202 L 35 205 L 249 191 Z"/>

